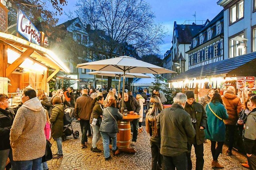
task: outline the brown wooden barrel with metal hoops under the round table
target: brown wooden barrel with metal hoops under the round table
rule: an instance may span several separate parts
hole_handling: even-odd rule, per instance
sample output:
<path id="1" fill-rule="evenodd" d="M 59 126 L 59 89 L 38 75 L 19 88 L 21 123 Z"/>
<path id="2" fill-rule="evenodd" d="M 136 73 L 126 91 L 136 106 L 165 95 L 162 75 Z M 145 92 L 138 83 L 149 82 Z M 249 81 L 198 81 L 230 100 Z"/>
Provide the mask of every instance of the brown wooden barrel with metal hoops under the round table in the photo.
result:
<path id="1" fill-rule="evenodd" d="M 129 121 L 118 121 L 117 146 L 120 149 L 129 147 L 131 127 Z"/>

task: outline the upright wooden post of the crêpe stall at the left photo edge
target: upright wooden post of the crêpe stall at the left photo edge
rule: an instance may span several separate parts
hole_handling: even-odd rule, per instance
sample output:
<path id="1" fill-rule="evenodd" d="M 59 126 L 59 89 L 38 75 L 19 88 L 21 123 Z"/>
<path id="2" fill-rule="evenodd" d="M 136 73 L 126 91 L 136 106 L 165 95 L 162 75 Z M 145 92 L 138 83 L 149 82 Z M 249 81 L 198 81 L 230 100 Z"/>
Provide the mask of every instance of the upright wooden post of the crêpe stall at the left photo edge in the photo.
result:
<path id="1" fill-rule="evenodd" d="M 6 68 L 8 66 L 7 63 L 7 46 L 3 43 L 0 43 L 0 77 L 7 77 L 6 76 Z"/>

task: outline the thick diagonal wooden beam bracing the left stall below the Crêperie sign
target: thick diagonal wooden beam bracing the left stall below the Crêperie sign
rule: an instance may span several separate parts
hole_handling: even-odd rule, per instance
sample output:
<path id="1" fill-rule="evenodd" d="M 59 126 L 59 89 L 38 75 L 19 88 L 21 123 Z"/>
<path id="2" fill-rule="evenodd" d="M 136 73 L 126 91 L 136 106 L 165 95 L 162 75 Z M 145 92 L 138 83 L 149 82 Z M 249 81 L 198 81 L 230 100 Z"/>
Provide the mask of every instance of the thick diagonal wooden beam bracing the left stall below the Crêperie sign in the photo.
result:
<path id="1" fill-rule="evenodd" d="M 6 77 L 10 76 L 10 74 L 12 74 L 12 72 L 18 66 L 20 66 L 20 64 L 22 64 L 22 62 L 25 61 L 25 59 L 27 59 L 33 52 L 34 50 L 27 49 L 22 55 L 20 55 L 18 59 L 16 59 L 11 65 L 9 65 L 8 68 L 6 68 Z"/>

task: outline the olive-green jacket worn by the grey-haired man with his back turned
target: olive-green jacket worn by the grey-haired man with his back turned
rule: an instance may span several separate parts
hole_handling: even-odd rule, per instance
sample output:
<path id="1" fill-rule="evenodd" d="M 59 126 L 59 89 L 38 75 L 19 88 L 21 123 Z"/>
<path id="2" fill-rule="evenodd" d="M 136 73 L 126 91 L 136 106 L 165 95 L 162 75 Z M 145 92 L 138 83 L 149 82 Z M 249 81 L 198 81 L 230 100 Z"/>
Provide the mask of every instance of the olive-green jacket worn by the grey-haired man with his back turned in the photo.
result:
<path id="1" fill-rule="evenodd" d="M 163 109 L 157 120 L 160 129 L 161 149 L 164 156 L 178 156 L 188 151 L 188 138 L 193 138 L 196 131 L 190 115 L 179 104 Z"/>

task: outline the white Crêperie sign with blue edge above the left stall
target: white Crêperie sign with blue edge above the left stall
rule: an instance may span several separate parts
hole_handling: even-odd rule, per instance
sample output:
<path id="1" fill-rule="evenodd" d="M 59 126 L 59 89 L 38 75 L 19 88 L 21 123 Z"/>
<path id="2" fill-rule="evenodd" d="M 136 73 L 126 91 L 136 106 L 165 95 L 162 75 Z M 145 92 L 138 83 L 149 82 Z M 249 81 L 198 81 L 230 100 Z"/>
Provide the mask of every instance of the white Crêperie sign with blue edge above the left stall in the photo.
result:
<path id="1" fill-rule="evenodd" d="M 21 10 L 18 10 L 17 31 L 31 43 L 40 45 L 40 32 Z"/>

